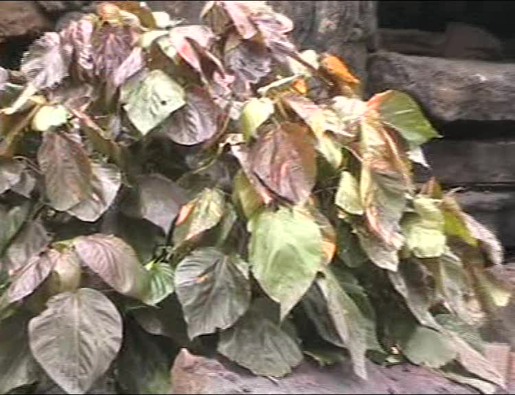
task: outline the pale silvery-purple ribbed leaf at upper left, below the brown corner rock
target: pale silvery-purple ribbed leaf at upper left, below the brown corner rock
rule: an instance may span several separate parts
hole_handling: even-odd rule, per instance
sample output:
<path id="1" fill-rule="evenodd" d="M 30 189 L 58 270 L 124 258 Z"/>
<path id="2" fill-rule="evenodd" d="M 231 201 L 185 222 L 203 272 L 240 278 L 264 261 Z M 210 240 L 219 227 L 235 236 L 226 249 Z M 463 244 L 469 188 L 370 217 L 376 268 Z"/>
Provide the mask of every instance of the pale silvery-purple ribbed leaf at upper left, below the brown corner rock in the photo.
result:
<path id="1" fill-rule="evenodd" d="M 38 38 L 23 55 L 20 70 L 36 89 L 52 88 L 68 75 L 71 43 L 54 32 Z"/>

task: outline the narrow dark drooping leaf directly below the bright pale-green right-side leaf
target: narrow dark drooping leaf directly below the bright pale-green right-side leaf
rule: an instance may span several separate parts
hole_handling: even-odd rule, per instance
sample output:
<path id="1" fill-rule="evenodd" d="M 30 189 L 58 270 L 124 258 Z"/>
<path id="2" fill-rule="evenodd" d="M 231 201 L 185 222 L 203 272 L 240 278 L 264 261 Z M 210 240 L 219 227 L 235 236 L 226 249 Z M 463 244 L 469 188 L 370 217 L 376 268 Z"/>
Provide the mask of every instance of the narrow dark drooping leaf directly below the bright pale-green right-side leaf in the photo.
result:
<path id="1" fill-rule="evenodd" d="M 430 328 L 439 329 L 439 325 L 429 313 L 431 289 L 424 281 L 424 272 L 416 262 L 402 262 L 397 272 L 388 272 L 391 284 L 404 297 L 411 313 L 415 315 L 420 324 Z"/>

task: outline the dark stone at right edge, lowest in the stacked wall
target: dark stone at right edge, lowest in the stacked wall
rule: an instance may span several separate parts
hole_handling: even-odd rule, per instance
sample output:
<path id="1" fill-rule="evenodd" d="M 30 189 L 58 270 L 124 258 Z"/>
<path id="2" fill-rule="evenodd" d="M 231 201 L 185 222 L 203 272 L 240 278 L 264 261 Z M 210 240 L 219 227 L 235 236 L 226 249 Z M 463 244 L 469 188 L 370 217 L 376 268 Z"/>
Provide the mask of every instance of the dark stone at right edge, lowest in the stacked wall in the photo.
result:
<path id="1" fill-rule="evenodd" d="M 465 191 L 457 198 L 464 211 L 492 230 L 505 248 L 515 247 L 515 191 Z"/>

